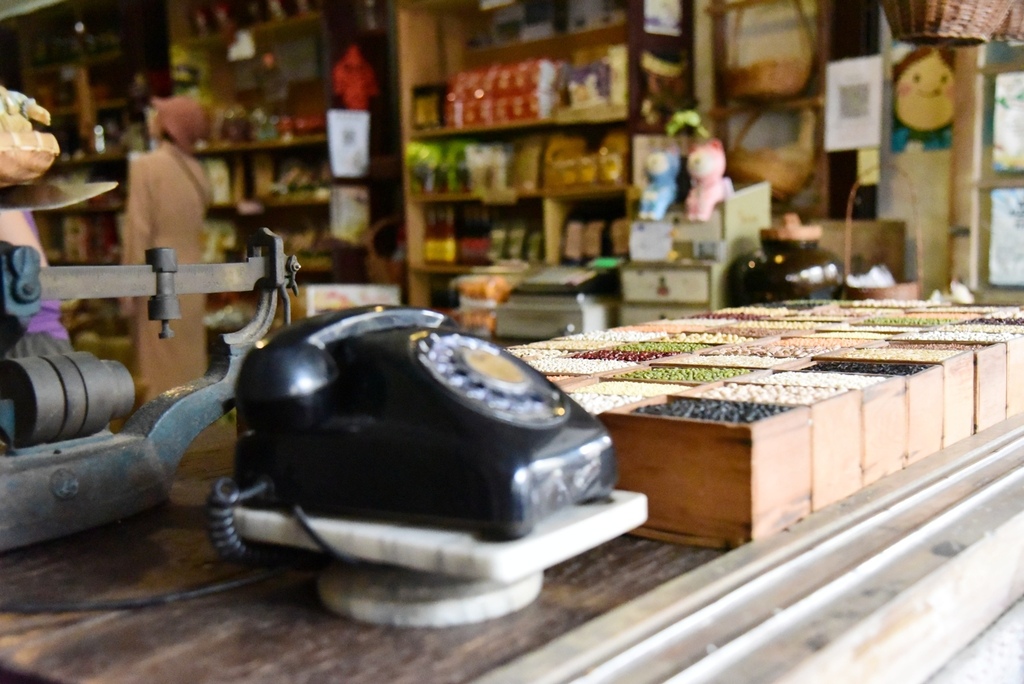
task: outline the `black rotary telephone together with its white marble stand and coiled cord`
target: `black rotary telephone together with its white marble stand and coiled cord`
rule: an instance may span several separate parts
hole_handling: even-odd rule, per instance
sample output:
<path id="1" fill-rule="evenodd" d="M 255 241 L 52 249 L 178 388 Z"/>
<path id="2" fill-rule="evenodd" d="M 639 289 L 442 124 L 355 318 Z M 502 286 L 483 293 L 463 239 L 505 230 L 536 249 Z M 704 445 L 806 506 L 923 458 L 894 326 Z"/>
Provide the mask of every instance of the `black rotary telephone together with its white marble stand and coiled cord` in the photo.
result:
<path id="1" fill-rule="evenodd" d="M 321 596 L 357 619 L 517 610 L 545 568 L 646 519 L 642 495 L 613 488 L 601 423 L 440 313 L 303 320 L 246 357 L 236 394 L 249 429 L 211 493 L 214 546 L 257 564 L 283 547 L 334 556 Z"/>

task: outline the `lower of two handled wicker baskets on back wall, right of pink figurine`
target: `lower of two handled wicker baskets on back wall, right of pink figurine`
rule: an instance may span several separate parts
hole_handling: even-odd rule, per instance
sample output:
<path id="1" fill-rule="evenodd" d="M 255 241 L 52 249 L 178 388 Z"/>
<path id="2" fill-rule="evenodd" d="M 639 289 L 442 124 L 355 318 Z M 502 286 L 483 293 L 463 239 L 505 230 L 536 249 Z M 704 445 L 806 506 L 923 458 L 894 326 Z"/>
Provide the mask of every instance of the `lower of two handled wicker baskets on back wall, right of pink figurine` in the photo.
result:
<path id="1" fill-rule="evenodd" d="M 735 143 L 726 155 L 729 177 L 736 182 L 756 183 L 766 180 L 771 184 L 772 197 L 788 200 L 807 185 L 814 171 L 814 112 L 801 115 L 800 136 L 796 143 L 783 147 L 748 149 L 743 139 L 761 113 L 752 115 L 736 136 Z"/>

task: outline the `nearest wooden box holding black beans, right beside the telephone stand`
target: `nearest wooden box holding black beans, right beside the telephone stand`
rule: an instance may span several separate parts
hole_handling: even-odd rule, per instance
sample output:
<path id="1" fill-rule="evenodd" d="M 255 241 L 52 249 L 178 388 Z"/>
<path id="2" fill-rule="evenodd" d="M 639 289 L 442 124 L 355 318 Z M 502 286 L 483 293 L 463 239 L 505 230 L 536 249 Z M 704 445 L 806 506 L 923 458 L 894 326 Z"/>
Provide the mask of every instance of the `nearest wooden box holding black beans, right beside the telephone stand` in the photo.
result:
<path id="1" fill-rule="evenodd" d="M 644 404 L 699 399 L 654 397 Z M 811 510 L 811 413 L 788 407 L 751 423 L 600 415 L 615 444 L 618 486 L 647 496 L 639 533 L 731 547 L 784 529 Z"/>

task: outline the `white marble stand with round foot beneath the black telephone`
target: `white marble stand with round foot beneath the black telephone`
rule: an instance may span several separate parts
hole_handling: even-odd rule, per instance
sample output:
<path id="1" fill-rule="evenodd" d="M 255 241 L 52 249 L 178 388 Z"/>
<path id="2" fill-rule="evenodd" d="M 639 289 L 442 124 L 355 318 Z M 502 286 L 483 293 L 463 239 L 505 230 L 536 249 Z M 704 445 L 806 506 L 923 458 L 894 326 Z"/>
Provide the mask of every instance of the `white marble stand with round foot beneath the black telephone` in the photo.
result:
<path id="1" fill-rule="evenodd" d="M 613 491 L 573 506 L 511 542 L 458 529 L 341 518 L 310 518 L 337 551 L 365 563 L 335 563 L 321 576 L 331 610 L 365 622 L 447 627 L 498 617 L 528 605 L 544 570 L 643 524 L 647 498 Z M 236 509 L 243 538 L 318 551 L 288 513 Z"/>

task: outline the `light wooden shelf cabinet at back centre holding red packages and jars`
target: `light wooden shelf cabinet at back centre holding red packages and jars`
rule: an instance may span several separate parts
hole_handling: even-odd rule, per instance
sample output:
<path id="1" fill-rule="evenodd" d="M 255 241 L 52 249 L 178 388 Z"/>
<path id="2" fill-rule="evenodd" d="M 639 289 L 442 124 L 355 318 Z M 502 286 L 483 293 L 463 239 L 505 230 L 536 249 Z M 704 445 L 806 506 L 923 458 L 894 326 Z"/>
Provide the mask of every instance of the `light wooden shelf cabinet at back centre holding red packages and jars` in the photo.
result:
<path id="1" fill-rule="evenodd" d="M 642 0 L 604 3 L 609 8 L 607 13 L 591 16 L 593 20 L 589 23 L 581 9 L 585 4 L 594 3 L 550 3 L 548 6 L 552 14 L 538 19 L 529 16 L 528 12 L 517 17 L 519 3 L 495 10 L 481 10 L 481 3 L 467 0 L 400 0 L 397 3 L 398 90 L 401 98 L 401 138 L 407 155 L 422 142 L 507 143 L 515 147 L 522 140 L 532 138 L 546 145 L 541 170 L 531 182 L 511 182 L 498 191 L 478 186 L 469 191 L 466 187 L 459 187 L 455 193 L 436 191 L 436 187 L 434 191 L 424 191 L 423 183 L 412 175 L 411 168 L 407 168 L 403 200 L 411 304 L 447 304 L 444 293 L 453 276 L 468 273 L 474 263 L 479 263 L 458 256 L 453 258 L 453 254 L 457 255 L 459 251 L 455 248 L 447 250 L 447 258 L 438 259 L 430 244 L 431 233 L 438 222 L 443 224 L 454 218 L 457 230 L 469 230 L 466 224 L 470 220 L 475 224 L 476 218 L 482 215 L 484 224 L 511 225 L 511 233 L 519 231 L 521 234 L 524 230 L 527 236 L 534 236 L 532 239 L 527 237 L 528 243 L 532 240 L 531 244 L 542 245 L 532 251 L 516 250 L 511 260 L 558 264 L 564 258 L 563 233 L 567 220 L 579 217 L 586 221 L 594 217 L 609 220 L 610 223 L 610 219 L 633 214 L 638 191 L 631 183 L 630 137 L 637 132 L 664 131 L 664 124 L 656 119 L 654 123 L 647 123 L 643 118 L 644 112 L 650 109 L 649 102 L 644 105 L 644 97 L 650 94 L 650 88 L 643 83 L 645 72 L 641 61 L 645 54 L 653 54 L 653 51 L 667 50 L 671 53 L 676 60 L 673 63 L 680 63 L 680 96 L 686 103 L 691 101 L 691 3 L 688 0 L 676 3 L 680 15 L 678 35 L 671 36 L 645 33 Z M 513 30 L 512 33 L 517 35 L 512 39 L 502 35 L 506 18 L 510 24 L 521 25 L 521 30 Z M 486 38 L 481 40 L 481 36 Z M 617 56 L 611 56 L 616 50 L 621 50 Z M 610 67 L 610 94 L 602 96 L 598 104 L 580 106 L 577 101 L 573 106 L 567 97 L 563 100 L 563 95 L 555 93 L 555 101 L 547 111 L 548 102 L 543 99 L 546 94 L 542 94 L 541 101 L 532 104 L 540 114 L 519 117 L 515 114 L 515 98 L 519 95 L 506 96 L 496 89 L 493 101 L 489 101 L 490 93 L 478 95 L 487 101 L 483 106 L 493 106 L 493 112 L 486 109 L 484 114 L 469 113 L 468 109 L 465 113 L 450 110 L 443 127 L 417 126 L 422 112 L 417 110 L 414 91 L 422 92 L 426 88 L 429 92 L 432 87 L 435 96 L 443 98 L 447 90 L 455 98 L 459 86 L 453 77 L 458 74 L 474 70 L 482 73 L 493 66 L 498 66 L 501 73 L 509 65 L 536 59 L 564 62 L 583 70 L 584 65 L 592 65 L 605 55 L 608 55 L 606 59 L 609 63 L 620 63 L 623 73 L 616 75 L 616 68 Z M 622 61 L 613 62 L 614 59 Z M 496 78 L 500 81 L 502 77 Z M 593 78 L 597 80 L 600 77 Z M 622 79 L 625 88 L 625 92 L 618 91 L 618 96 L 614 94 L 616 78 Z M 571 82 L 572 77 L 568 79 Z M 479 92 L 483 93 L 483 88 Z M 506 99 L 511 103 L 503 101 Z M 680 104 L 683 99 L 679 100 Z M 450 103 L 450 106 L 461 106 L 461 100 L 454 105 Z M 464 116 L 463 121 L 453 120 L 460 116 Z M 600 164 L 598 155 L 611 132 L 621 133 L 627 146 L 620 161 L 622 173 L 614 179 L 601 178 L 598 174 L 593 181 L 581 182 L 588 177 L 585 172 L 574 176 L 569 171 L 566 177 L 572 180 L 566 182 L 565 178 L 555 178 L 555 174 L 551 173 L 555 168 L 552 166 L 550 146 L 554 136 L 569 137 L 579 142 L 581 149 L 586 151 L 580 154 L 584 158 L 593 157 L 592 160 L 585 159 L 584 164 Z M 571 164 L 571 161 L 568 163 Z M 467 220 L 467 215 L 472 219 Z M 485 233 L 484 228 L 484 240 L 487 239 Z M 489 261 L 499 258 L 499 250 L 492 250 Z"/>

